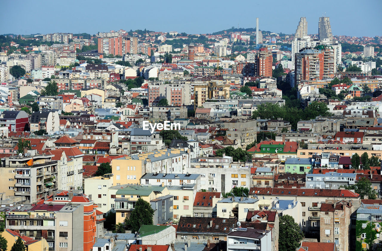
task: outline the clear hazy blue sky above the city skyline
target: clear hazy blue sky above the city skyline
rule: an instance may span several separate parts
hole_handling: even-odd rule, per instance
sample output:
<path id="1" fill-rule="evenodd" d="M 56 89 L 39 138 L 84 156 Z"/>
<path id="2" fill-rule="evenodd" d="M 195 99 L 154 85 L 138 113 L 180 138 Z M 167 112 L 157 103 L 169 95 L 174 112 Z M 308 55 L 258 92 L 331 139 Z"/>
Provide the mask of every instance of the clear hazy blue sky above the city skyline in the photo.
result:
<path id="1" fill-rule="evenodd" d="M 2 0 L 0 34 L 107 32 L 148 29 L 203 34 L 231 28 L 294 33 L 306 16 L 308 33 L 330 17 L 333 35 L 381 36 L 381 0 Z"/>

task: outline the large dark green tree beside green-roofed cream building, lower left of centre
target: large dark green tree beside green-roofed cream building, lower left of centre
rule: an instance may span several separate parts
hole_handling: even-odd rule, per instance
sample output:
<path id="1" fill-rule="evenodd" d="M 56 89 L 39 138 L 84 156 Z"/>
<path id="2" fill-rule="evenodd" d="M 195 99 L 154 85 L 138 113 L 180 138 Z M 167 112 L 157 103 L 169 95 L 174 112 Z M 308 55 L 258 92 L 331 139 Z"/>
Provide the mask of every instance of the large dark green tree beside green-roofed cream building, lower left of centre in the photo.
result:
<path id="1" fill-rule="evenodd" d="M 149 202 L 139 198 L 135 202 L 134 210 L 131 212 L 129 219 L 125 218 L 125 228 L 131 230 L 132 233 L 138 232 L 142 225 L 152 225 L 152 217 L 154 210 Z"/>

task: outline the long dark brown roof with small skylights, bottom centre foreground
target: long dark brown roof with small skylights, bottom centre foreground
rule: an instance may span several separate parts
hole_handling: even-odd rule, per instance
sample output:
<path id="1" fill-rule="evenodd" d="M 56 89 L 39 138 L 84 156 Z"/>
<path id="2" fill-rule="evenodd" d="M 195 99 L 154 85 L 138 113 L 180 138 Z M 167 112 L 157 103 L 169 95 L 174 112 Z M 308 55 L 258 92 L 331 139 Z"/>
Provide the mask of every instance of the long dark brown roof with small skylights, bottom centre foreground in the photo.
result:
<path id="1" fill-rule="evenodd" d="M 212 221 L 212 225 L 210 222 Z M 180 217 L 177 233 L 221 233 L 227 235 L 237 219 Z"/>

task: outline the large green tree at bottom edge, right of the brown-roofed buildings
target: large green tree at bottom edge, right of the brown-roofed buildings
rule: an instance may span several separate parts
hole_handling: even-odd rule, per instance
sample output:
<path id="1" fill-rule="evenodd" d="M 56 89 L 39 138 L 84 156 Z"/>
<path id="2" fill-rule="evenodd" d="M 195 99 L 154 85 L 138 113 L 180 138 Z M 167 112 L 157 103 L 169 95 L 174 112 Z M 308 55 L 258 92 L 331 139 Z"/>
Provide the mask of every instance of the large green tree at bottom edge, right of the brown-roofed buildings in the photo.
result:
<path id="1" fill-rule="evenodd" d="M 290 215 L 283 215 L 279 218 L 278 223 L 278 250 L 290 251 L 296 250 L 300 245 L 300 241 L 304 238 L 304 233 L 299 225 Z"/>

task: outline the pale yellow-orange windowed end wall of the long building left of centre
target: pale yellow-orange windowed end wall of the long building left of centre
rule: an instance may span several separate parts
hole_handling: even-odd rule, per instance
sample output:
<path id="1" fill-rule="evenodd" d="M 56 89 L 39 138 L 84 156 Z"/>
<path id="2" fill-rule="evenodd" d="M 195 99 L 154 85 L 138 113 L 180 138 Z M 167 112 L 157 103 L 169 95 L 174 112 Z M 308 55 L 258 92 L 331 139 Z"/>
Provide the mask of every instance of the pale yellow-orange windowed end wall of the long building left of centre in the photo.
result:
<path id="1" fill-rule="evenodd" d="M 112 160 L 113 186 L 125 184 L 141 184 L 141 177 L 145 174 L 144 157 L 133 160 L 125 157 Z"/>

